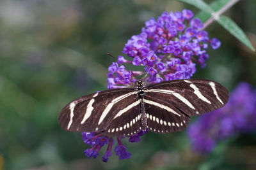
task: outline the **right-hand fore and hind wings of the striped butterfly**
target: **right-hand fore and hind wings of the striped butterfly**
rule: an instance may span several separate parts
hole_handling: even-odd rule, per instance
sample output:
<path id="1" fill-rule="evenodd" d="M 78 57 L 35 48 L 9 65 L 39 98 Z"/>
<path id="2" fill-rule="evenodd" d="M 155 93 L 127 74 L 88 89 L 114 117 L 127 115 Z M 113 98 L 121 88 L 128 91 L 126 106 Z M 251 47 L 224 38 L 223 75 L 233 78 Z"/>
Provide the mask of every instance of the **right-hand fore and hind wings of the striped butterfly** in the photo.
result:
<path id="1" fill-rule="evenodd" d="M 182 131 L 188 126 L 189 117 L 221 108 L 227 101 L 228 90 L 214 81 L 191 79 L 150 85 L 144 99 L 148 129 Z"/>

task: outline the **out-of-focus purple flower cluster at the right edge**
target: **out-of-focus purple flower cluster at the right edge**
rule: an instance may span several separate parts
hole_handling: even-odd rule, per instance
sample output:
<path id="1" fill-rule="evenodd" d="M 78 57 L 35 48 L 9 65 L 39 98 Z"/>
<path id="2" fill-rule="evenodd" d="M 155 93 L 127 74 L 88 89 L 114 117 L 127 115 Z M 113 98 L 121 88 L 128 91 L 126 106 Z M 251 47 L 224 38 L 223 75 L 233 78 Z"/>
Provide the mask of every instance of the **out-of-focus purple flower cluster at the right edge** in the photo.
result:
<path id="1" fill-rule="evenodd" d="M 256 89 L 239 83 L 221 109 L 202 115 L 189 125 L 188 136 L 196 152 L 208 153 L 220 139 L 256 130 Z"/>

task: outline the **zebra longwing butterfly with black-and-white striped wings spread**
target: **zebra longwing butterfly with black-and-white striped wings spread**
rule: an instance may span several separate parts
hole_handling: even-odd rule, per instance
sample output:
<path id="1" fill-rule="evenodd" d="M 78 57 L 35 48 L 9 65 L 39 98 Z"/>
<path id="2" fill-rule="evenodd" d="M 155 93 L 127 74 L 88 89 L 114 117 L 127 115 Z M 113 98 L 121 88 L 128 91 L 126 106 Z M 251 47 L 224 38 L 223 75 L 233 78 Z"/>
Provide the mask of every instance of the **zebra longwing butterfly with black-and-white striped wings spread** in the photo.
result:
<path id="1" fill-rule="evenodd" d="M 182 131 L 191 116 L 223 107 L 228 90 L 214 81 L 162 81 L 148 87 L 104 90 L 79 97 L 60 113 L 59 123 L 72 132 L 132 136 L 141 129 L 156 133 Z"/>

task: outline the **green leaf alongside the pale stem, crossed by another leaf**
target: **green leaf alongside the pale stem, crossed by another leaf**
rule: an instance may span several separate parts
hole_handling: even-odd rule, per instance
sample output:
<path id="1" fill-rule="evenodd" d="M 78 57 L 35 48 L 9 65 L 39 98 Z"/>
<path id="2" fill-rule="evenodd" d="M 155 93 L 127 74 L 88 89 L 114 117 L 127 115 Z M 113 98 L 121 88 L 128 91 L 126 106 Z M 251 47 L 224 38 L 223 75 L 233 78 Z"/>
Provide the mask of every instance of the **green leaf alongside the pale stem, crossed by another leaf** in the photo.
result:
<path id="1" fill-rule="evenodd" d="M 229 1 L 232 1 L 232 0 L 217 0 L 211 3 L 210 6 L 212 10 L 216 12 L 220 10 L 223 6 L 225 6 L 225 4 L 227 4 Z M 202 22 L 205 22 L 211 17 L 211 14 L 209 12 L 200 11 L 198 14 L 196 14 L 196 17 L 200 18 Z"/>

